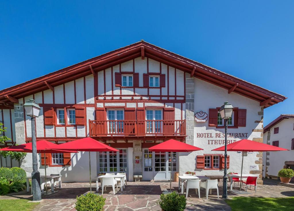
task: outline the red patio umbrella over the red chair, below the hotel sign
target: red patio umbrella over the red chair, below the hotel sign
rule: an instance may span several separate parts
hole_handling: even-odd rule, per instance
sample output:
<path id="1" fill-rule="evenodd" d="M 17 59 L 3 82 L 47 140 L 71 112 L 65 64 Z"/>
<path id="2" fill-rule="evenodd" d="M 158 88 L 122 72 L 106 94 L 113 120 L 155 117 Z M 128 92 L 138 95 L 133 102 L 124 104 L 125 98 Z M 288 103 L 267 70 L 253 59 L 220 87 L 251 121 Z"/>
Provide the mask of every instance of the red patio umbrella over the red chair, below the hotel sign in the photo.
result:
<path id="1" fill-rule="evenodd" d="M 260 142 L 251 141 L 248 139 L 242 139 L 240 141 L 236 141 L 234 143 L 227 145 L 227 151 L 235 151 L 235 152 L 267 152 L 267 151 L 286 151 L 289 149 L 284 149 L 281 147 L 275 147 L 269 144 L 263 144 Z M 211 151 L 225 151 L 225 146 L 218 147 Z M 241 165 L 241 178 L 242 180 L 242 171 L 243 171 L 243 158 L 244 154 L 242 153 L 242 165 Z M 241 182 L 240 182 L 240 192 L 241 192 Z"/>

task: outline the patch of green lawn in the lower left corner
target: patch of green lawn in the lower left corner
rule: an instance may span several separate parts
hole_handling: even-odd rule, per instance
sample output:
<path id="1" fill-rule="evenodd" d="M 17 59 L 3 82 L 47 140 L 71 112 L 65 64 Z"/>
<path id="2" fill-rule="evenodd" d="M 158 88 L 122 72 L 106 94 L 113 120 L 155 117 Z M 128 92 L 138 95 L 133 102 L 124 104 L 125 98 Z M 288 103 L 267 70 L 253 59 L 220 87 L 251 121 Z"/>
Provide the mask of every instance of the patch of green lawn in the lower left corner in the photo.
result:
<path id="1" fill-rule="evenodd" d="M 31 211 L 38 203 L 28 203 L 26 199 L 2 199 L 0 200 L 0 211 Z"/>

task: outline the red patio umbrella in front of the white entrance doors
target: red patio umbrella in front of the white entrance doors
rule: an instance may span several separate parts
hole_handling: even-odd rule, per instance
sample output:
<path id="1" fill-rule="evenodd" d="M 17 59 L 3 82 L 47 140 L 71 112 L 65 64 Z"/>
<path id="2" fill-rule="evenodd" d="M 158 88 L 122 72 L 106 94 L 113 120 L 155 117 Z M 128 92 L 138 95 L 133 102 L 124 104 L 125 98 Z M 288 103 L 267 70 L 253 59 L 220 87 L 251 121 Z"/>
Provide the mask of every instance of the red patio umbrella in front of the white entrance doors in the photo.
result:
<path id="1" fill-rule="evenodd" d="M 180 141 L 176 141 L 175 139 L 169 139 L 166 142 L 162 142 L 160 144 L 157 144 L 153 147 L 150 147 L 148 149 L 150 152 L 170 152 L 171 154 L 173 152 L 193 152 L 198 150 L 203 150 L 199 147 L 194 147 L 190 144 L 186 144 Z M 172 166 L 171 166 L 171 173 L 172 173 Z M 170 192 L 171 192 L 171 181 L 170 181 Z"/>

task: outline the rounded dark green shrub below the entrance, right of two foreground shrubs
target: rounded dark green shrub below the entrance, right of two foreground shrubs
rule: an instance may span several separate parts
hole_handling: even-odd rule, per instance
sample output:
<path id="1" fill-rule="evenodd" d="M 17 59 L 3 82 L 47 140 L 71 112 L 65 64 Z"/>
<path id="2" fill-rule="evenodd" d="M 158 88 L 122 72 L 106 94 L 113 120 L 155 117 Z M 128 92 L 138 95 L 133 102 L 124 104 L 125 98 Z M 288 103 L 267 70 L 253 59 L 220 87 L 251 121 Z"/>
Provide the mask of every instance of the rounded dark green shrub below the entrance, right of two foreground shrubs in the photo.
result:
<path id="1" fill-rule="evenodd" d="M 186 208 L 186 197 L 178 195 L 176 191 L 169 194 L 161 194 L 157 204 L 162 211 L 183 211 Z"/>

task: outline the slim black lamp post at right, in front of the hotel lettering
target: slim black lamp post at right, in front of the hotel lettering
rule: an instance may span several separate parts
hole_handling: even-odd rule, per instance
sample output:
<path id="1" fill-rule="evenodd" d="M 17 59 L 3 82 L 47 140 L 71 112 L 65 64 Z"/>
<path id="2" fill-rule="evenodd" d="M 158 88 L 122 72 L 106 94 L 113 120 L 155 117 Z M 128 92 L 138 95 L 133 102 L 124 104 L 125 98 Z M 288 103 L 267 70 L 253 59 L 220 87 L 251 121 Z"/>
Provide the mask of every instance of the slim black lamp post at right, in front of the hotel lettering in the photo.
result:
<path id="1" fill-rule="evenodd" d="M 233 106 L 229 102 L 225 102 L 220 107 L 220 117 L 225 120 L 225 171 L 223 173 L 223 196 L 222 198 L 228 198 L 228 176 L 227 176 L 227 130 L 228 130 L 228 119 L 232 117 Z"/>

